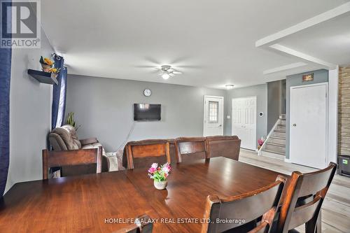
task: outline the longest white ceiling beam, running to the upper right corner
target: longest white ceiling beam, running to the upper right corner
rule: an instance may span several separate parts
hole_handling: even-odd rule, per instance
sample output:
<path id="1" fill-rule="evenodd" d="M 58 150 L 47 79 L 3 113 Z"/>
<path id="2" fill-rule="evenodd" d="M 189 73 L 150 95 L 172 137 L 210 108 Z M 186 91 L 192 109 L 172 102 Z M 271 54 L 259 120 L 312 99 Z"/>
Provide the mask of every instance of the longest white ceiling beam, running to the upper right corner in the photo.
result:
<path id="1" fill-rule="evenodd" d="M 333 8 L 332 10 L 328 10 L 324 13 L 316 15 L 315 17 L 309 18 L 308 20 L 305 20 L 303 22 L 295 24 L 292 27 L 288 27 L 287 29 L 283 29 L 281 31 L 278 31 L 275 34 L 271 34 L 269 36 L 261 38 L 260 40 L 255 42 L 255 47 L 268 46 L 268 45 L 271 45 L 273 43 L 277 43 L 279 40 L 281 40 L 281 38 L 284 38 L 284 37 L 289 36 L 291 34 L 295 34 L 297 31 L 302 31 L 302 30 L 307 29 L 309 27 L 312 27 L 316 24 L 319 24 L 321 22 L 325 22 L 327 20 L 330 20 L 334 17 L 337 17 L 339 15 L 343 15 L 344 13 L 348 13 L 348 12 L 350 12 L 350 1 L 347 3 L 344 3 L 340 6 L 337 6 L 336 8 Z"/>

